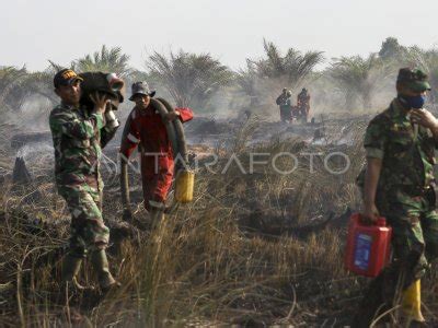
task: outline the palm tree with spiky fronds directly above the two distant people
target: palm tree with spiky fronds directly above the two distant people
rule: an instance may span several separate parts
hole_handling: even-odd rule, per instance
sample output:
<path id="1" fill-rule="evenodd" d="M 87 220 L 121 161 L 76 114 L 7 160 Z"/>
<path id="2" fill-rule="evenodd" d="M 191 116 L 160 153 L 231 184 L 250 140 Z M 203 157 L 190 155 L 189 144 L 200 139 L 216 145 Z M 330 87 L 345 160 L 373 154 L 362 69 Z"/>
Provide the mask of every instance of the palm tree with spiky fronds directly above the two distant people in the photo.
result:
<path id="1" fill-rule="evenodd" d="M 314 67 L 324 61 L 322 51 L 307 51 L 289 48 L 285 56 L 281 56 L 278 47 L 266 39 L 263 47 L 267 58 L 250 60 L 254 65 L 261 78 L 285 80 L 290 87 L 296 87 L 313 71 Z"/>

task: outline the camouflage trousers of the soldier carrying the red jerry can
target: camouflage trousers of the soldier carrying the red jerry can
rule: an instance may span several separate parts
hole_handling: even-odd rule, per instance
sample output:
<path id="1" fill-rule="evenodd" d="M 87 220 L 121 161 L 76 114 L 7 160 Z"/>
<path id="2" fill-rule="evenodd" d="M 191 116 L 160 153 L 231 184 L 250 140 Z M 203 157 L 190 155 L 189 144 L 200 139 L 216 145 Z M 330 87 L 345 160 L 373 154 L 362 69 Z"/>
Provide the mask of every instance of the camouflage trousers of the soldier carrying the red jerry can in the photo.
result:
<path id="1" fill-rule="evenodd" d="M 370 283 L 351 327 L 397 305 L 402 292 L 438 258 L 438 213 L 433 189 L 423 195 L 396 190 L 381 197 L 379 212 L 392 226 L 392 262 Z M 378 197 L 379 199 L 379 197 Z"/>

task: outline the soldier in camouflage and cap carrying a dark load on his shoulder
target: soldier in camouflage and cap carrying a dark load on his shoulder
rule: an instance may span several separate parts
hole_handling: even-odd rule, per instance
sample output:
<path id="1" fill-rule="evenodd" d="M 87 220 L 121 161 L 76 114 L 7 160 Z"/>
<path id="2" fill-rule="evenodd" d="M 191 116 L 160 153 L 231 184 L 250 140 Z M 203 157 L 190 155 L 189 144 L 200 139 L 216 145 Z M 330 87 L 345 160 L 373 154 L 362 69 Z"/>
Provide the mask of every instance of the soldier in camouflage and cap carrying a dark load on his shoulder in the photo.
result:
<path id="1" fill-rule="evenodd" d="M 68 69 L 55 75 L 55 92 L 61 103 L 51 110 L 49 117 L 56 185 L 71 213 L 70 247 L 62 260 L 62 280 L 80 286 L 76 276 L 82 259 L 89 256 L 101 289 L 107 290 L 116 281 L 108 269 L 105 248 L 110 230 L 101 212 L 101 138 L 114 136 L 118 121 L 107 108 L 106 95 L 95 94 L 92 97 L 94 109 L 91 112 L 80 106 L 81 80 Z"/>

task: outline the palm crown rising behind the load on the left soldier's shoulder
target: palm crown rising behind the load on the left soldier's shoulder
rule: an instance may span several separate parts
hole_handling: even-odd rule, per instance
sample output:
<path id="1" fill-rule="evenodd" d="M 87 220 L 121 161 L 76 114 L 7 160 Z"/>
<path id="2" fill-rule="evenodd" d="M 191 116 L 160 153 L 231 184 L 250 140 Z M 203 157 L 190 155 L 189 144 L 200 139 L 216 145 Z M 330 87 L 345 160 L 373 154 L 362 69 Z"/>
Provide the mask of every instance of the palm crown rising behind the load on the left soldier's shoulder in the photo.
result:
<path id="1" fill-rule="evenodd" d="M 72 66 L 79 72 L 114 72 L 120 78 L 127 78 L 131 72 L 128 61 L 129 56 L 123 54 L 120 47 L 108 49 L 103 45 L 100 51 L 95 51 L 93 55 L 87 55 L 83 58 L 74 60 Z"/>

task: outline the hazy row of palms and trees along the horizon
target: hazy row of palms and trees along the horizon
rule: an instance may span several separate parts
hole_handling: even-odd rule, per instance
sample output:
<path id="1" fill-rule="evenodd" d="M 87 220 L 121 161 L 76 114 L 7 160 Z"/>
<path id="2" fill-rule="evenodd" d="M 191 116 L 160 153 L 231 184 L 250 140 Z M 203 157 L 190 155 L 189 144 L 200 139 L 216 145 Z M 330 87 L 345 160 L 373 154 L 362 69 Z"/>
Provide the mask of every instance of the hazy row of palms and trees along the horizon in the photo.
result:
<path id="1" fill-rule="evenodd" d="M 233 71 L 210 54 L 184 50 L 160 54 L 154 51 L 138 70 L 129 65 L 130 57 L 120 47 L 105 45 L 99 51 L 72 60 L 69 67 L 78 72 L 115 72 L 128 83 L 148 81 L 164 90 L 177 106 L 209 108 L 219 92 L 245 99 L 247 106 L 263 104 L 280 87 L 297 91 L 318 81 L 324 92 L 337 94 L 346 110 L 372 108 L 374 94 L 393 83 L 400 67 L 415 66 L 429 74 L 431 85 L 438 85 L 438 50 L 405 47 L 388 37 L 379 51 L 368 56 L 339 57 L 326 60 L 323 51 L 281 51 L 274 43 L 263 40 L 262 58 L 247 58 L 246 66 Z M 322 68 L 322 65 L 325 67 Z M 0 112 L 19 110 L 30 96 L 55 104 L 53 77 L 60 65 L 48 62 L 47 69 L 31 72 L 26 67 L 0 67 Z M 430 93 L 430 102 L 437 99 Z"/>

